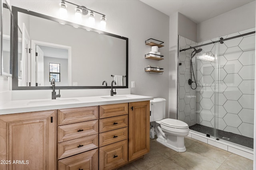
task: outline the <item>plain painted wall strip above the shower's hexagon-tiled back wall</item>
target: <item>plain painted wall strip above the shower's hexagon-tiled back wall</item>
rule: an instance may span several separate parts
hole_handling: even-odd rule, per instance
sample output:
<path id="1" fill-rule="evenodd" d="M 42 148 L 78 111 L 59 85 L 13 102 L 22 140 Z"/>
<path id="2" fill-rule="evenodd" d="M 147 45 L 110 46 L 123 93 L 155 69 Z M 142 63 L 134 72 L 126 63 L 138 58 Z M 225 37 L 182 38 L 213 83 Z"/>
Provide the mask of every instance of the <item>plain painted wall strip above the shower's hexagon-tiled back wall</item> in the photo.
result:
<path id="1" fill-rule="evenodd" d="M 255 3 L 251 2 L 197 25 L 197 41 L 202 42 L 222 35 L 255 27 Z"/>

